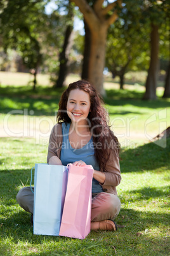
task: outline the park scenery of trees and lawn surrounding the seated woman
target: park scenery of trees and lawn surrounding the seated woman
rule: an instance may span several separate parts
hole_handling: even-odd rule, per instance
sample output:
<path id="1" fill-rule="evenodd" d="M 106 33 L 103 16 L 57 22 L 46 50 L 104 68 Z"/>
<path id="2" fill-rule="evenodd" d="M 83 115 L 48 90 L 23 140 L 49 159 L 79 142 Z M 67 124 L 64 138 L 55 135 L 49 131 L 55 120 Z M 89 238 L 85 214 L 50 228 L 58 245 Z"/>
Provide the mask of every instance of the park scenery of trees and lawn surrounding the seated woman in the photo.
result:
<path id="1" fill-rule="evenodd" d="M 168 1 L 1 1 L 1 255 L 169 255 L 169 130 L 158 137 L 170 126 L 169 17 Z M 121 143 L 118 231 L 34 236 L 15 196 L 81 78 Z"/>

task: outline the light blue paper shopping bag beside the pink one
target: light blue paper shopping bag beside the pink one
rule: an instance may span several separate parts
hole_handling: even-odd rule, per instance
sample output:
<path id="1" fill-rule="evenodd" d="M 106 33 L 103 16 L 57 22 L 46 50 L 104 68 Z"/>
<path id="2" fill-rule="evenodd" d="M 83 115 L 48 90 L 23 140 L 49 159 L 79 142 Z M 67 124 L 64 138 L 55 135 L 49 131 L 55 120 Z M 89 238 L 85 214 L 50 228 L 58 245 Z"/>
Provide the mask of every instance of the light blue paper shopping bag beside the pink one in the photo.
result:
<path id="1" fill-rule="evenodd" d="M 67 177 L 67 166 L 35 164 L 34 234 L 58 236 Z"/>

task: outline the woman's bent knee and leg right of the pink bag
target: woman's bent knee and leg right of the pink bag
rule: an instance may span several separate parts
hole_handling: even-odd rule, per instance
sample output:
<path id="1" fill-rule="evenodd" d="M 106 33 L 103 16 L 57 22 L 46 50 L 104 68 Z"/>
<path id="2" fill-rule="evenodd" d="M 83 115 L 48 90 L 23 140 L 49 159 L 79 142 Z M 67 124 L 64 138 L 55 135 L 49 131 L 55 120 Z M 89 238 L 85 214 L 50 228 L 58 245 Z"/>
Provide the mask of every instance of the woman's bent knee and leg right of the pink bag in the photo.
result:
<path id="1" fill-rule="evenodd" d="M 114 194 L 101 192 L 92 199 L 91 222 L 114 220 L 121 209 L 121 201 Z"/>

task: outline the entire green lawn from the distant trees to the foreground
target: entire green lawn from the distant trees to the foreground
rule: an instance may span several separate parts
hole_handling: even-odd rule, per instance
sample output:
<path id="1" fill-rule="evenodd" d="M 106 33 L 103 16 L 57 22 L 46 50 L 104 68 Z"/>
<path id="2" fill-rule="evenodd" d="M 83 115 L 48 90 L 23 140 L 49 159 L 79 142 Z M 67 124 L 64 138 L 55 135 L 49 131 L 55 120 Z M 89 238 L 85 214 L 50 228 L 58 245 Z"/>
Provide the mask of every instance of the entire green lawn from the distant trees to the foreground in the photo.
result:
<path id="1" fill-rule="evenodd" d="M 33 235 L 30 214 L 16 203 L 30 169 L 46 162 L 49 132 L 62 90 L 0 88 L 0 255 L 169 255 L 170 139 L 149 139 L 170 125 L 170 101 L 141 101 L 141 88 L 107 90 L 110 123 L 121 141 L 122 207 L 117 232 L 91 231 L 84 240 Z"/>

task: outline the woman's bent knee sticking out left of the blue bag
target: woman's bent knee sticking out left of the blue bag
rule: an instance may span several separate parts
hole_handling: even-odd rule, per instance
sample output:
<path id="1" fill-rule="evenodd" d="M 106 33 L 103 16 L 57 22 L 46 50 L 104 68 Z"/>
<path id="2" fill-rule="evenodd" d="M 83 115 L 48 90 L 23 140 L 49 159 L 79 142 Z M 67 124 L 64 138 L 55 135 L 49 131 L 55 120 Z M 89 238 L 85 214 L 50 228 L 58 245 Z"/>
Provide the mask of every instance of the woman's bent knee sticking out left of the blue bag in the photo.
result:
<path id="1" fill-rule="evenodd" d="M 34 191 L 34 187 L 32 187 Z M 33 214 L 34 211 L 34 194 L 30 187 L 23 187 L 16 195 L 16 201 L 25 211 Z"/>

